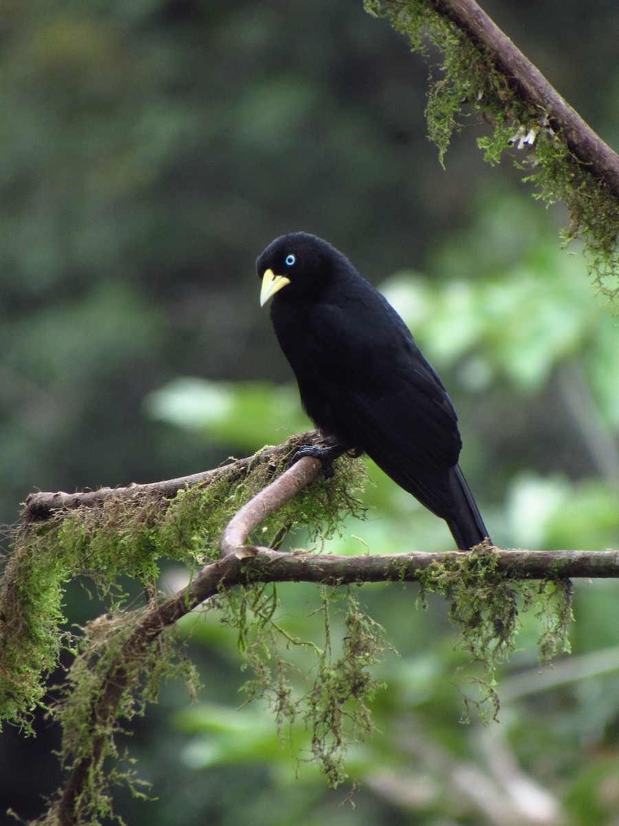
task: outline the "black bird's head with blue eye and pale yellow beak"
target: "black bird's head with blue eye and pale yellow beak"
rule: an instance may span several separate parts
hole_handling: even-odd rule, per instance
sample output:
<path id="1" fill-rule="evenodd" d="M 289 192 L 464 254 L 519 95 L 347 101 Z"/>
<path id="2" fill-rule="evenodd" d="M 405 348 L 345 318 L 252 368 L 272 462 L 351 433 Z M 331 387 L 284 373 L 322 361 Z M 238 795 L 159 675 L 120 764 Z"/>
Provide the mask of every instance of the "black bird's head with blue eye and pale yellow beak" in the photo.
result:
<path id="1" fill-rule="evenodd" d="M 260 306 L 286 287 L 286 296 L 315 292 L 339 260 L 345 260 L 331 244 L 306 232 L 281 235 L 258 256 L 256 270 L 262 278 Z"/>

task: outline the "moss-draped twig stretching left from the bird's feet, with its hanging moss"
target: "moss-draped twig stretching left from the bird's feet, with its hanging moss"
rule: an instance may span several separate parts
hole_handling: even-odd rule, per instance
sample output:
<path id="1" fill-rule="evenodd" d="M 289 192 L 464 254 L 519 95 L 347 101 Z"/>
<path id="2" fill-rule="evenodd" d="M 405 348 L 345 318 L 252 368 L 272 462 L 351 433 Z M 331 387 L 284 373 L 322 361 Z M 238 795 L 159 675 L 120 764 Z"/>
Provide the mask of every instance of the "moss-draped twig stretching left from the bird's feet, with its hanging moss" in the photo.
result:
<path id="1" fill-rule="evenodd" d="M 0 579 L 0 720 L 31 731 L 45 678 L 57 666 L 60 649 L 73 648 L 73 635 L 63 628 L 64 590 L 73 577 L 87 577 L 118 609 L 126 600 L 121 577 L 139 579 L 153 594 L 161 558 L 194 568 L 217 558 L 232 515 L 281 472 L 299 444 L 315 438 L 315 431 L 300 434 L 182 479 L 29 496 Z M 335 520 L 340 492 L 339 482 L 317 487 L 304 513 L 297 518 L 289 511 L 286 525 L 267 530 L 263 542 L 273 544 L 274 531 L 285 533 L 304 518 L 310 525 Z"/>

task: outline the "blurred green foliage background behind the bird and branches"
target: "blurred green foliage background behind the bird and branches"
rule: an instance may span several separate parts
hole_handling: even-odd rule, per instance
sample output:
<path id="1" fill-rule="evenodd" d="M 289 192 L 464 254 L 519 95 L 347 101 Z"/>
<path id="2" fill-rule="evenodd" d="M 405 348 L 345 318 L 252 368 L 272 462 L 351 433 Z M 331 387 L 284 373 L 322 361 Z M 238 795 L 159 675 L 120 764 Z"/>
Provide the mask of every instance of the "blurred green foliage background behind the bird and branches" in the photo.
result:
<path id="1" fill-rule="evenodd" d="M 616 2 L 483 5 L 616 145 Z M 360 0 L 26 0 L 1 22 L 2 521 L 35 488 L 182 476 L 304 428 L 253 271 L 272 238 L 303 229 L 384 288 L 441 373 L 497 544 L 617 548 L 617 322 L 578 250 L 557 249 L 560 210 L 482 163 L 487 126 L 453 140 L 441 169 L 427 70 L 385 21 Z M 369 476 L 369 520 L 330 550 L 451 547 L 439 520 Z M 117 809 L 155 826 L 611 826 L 618 590 L 576 584 L 574 653 L 554 672 L 522 617 L 488 731 L 460 723 L 475 675 L 459 670 L 442 601 L 422 611 L 413 587 L 364 587 L 399 656 L 376 667 L 377 731 L 349 755 L 354 809 L 297 764 L 305 732 L 282 748 L 259 702 L 236 710 L 234 631 L 196 616 L 184 630 L 204 705 L 182 710 L 182 686 L 166 687 L 130 742 L 158 800 L 120 793 Z M 316 589 L 280 596 L 282 624 L 307 629 Z M 78 623 L 103 610 L 78 586 L 68 600 Z M 36 741 L 2 734 L 2 812 L 40 814 L 33 778 L 41 794 L 58 785 L 55 736 L 42 720 Z"/>

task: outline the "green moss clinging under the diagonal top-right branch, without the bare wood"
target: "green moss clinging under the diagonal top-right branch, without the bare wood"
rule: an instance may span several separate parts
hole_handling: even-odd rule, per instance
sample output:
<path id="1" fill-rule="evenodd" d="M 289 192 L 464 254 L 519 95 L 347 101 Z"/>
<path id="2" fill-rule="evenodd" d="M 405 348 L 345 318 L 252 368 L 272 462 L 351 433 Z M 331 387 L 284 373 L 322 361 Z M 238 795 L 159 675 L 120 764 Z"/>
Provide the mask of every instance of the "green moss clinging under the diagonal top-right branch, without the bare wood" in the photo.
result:
<path id="1" fill-rule="evenodd" d="M 428 0 L 366 0 L 365 5 L 407 36 L 413 51 L 428 58 L 429 42 L 442 53 L 440 68 L 431 69 L 426 110 L 428 136 L 437 144 L 441 163 L 451 135 L 461 129 L 467 113 L 480 112 L 491 128 L 490 135 L 478 139 L 484 159 L 498 164 L 509 152 L 517 167 L 527 164 L 533 170 L 524 180 L 535 184 L 534 197 L 548 204 L 565 202 L 571 219 L 569 229 L 562 232 L 565 243 L 576 237 L 584 241 L 598 291 L 616 301 L 619 202 L 569 152 L 564 135 L 550 129 L 548 113 L 523 101 L 484 51 Z"/>

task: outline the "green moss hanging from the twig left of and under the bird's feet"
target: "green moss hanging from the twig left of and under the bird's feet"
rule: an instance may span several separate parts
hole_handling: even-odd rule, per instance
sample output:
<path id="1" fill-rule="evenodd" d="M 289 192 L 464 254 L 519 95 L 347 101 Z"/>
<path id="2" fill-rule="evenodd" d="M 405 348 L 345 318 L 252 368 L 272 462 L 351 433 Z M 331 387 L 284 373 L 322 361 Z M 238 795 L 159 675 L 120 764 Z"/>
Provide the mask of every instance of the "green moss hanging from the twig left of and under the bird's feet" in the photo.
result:
<path id="1" fill-rule="evenodd" d="M 0 719 L 30 732 L 45 678 L 56 667 L 62 646 L 74 645 L 63 629 L 67 582 L 91 579 L 111 610 L 120 610 L 126 601 L 125 577 L 138 579 L 154 593 L 158 560 L 195 567 L 215 558 L 224 526 L 278 469 L 260 461 L 240 473 L 223 468 L 212 482 L 179 491 L 171 500 L 137 488 L 133 496 L 108 496 L 100 506 L 59 511 L 17 534 L 0 587 Z M 317 480 L 267 520 L 257 532 L 262 544 L 295 525 L 331 533 L 341 515 L 360 513 L 353 493 L 361 473 L 359 463 L 340 460 L 333 480 Z"/>

